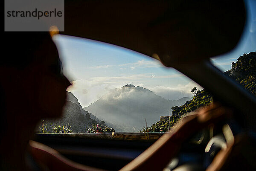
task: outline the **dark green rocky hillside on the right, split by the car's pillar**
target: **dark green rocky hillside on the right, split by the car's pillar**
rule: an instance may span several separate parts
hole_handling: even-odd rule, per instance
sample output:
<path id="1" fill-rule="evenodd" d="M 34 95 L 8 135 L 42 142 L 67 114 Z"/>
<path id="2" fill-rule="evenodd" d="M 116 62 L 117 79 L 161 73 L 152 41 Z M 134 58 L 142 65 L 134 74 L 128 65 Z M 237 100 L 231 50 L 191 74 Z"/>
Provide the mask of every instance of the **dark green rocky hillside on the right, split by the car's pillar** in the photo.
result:
<path id="1" fill-rule="evenodd" d="M 231 69 L 224 72 L 237 83 L 241 84 L 246 90 L 256 96 L 256 52 L 244 54 L 237 59 L 236 63 L 232 63 Z M 185 113 L 207 106 L 212 102 L 212 96 L 205 90 L 198 91 L 192 100 L 186 101 L 181 106 L 172 107 L 172 115 L 182 116 Z M 172 121 L 172 125 L 177 120 Z M 159 121 L 145 128 L 147 132 L 166 132 L 168 130 L 168 121 Z"/>

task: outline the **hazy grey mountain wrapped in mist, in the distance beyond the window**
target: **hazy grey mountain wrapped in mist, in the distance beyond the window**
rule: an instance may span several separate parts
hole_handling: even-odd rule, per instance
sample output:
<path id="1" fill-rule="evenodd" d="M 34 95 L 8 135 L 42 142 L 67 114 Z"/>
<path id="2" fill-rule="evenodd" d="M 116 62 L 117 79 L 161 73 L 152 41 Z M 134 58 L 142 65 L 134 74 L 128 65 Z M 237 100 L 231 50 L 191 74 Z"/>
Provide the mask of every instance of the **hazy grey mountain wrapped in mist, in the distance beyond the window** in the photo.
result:
<path id="1" fill-rule="evenodd" d="M 172 106 L 190 99 L 168 100 L 146 88 L 127 84 L 102 96 L 84 110 L 95 114 L 116 131 L 134 132 L 145 126 L 145 119 L 151 125 L 160 116 L 169 115 Z"/>

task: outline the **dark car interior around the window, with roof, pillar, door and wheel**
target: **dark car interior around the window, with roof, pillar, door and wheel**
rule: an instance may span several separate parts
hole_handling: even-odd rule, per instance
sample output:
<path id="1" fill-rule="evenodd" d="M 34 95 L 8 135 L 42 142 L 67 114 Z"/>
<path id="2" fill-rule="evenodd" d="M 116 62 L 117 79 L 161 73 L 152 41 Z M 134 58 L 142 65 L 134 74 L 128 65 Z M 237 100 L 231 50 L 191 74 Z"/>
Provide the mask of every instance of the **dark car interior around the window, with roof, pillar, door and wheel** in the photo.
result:
<path id="1" fill-rule="evenodd" d="M 236 48 L 248 22 L 247 10 L 243 0 L 65 0 L 65 31 L 57 34 L 109 43 L 154 58 L 204 87 L 215 104 L 234 113 L 229 118 L 221 116 L 201 123 L 193 120 L 196 111 L 190 112 L 178 128 L 184 134 L 174 133 L 173 142 L 161 147 L 156 143 L 172 131 L 35 133 L 32 140 L 74 162 L 103 170 L 256 169 L 256 155 L 252 152 L 256 141 L 256 97 L 224 75 L 210 59 Z M 190 118 L 193 122 L 185 125 Z M 247 148 L 225 156 L 237 153 L 245 157 L 216 161 L 222 149 L 236 142 L 236 136 L 244 140 L 242 146 Z M 229 166 L 210 168 L 213 164 Z"/>

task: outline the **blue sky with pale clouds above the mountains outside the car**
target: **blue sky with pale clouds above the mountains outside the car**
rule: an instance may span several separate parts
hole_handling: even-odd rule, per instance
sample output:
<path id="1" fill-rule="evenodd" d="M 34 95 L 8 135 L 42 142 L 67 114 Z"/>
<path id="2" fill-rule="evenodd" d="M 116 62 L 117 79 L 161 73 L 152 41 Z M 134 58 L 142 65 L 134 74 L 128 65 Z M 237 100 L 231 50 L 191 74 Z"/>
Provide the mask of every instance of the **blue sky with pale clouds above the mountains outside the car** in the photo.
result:
<path id="1" fill-rule="evenodd" d="M 230 70 L 244 53 L 256 51 L 256 0 L 247 0 L 248 20 L 234 50 L 211 59 L 222 71 Z M 73 84 L 67 91 L 82 107 L 92 104 L 114 88 L 125 84 L 142 86 L 163 98 L 192 97 L 194 81 L 159 61 L 119 46 L 66 35 L 53 37 L 63 64 L 64 75 Z"/>

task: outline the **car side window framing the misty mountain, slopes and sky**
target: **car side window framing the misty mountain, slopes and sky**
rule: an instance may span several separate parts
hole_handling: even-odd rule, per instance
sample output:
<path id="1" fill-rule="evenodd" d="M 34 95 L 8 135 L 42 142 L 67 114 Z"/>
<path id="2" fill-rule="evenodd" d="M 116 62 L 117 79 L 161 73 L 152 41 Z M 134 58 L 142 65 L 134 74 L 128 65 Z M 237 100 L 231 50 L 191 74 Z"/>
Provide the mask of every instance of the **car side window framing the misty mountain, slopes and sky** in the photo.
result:
<path id="1" fill-rule="evenodd" d="M 180 110 L 203 88 L 154 58 L 84 38 L 53 40 L 72 85 L 62 118 L 42 120 L 41 133 L 166 132 L 183 114 L 203 106 Z M 205 104 L 211 102 L 207 98 Z"/>

